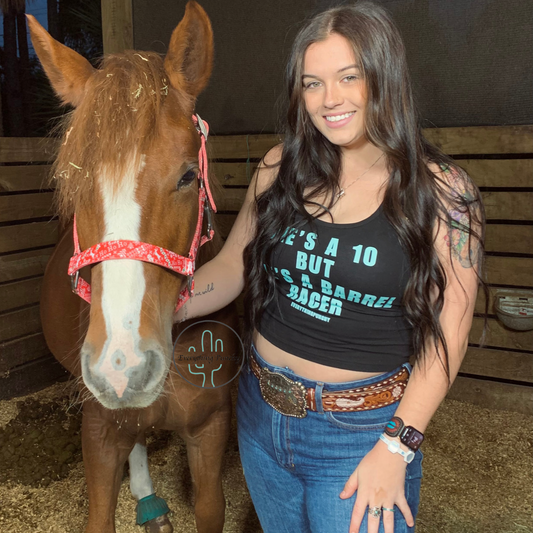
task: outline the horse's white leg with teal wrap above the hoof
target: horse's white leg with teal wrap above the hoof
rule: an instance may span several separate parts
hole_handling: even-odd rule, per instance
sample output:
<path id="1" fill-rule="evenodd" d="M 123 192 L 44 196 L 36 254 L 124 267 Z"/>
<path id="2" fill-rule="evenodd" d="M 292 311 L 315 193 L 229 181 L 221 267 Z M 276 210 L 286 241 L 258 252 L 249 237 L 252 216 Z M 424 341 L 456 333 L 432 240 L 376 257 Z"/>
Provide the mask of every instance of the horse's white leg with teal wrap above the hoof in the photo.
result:
<path id="1" fill-rule="evenodd" d="M 168 519 L 168 506 L 155 495 L 148 470 L 146 436 L 139 435 L 128 457 L 130 463 L 130 490 L 137 500 L 137 524 L 144 525 L 146 533 L 172 533 L 174 528 Z"/>

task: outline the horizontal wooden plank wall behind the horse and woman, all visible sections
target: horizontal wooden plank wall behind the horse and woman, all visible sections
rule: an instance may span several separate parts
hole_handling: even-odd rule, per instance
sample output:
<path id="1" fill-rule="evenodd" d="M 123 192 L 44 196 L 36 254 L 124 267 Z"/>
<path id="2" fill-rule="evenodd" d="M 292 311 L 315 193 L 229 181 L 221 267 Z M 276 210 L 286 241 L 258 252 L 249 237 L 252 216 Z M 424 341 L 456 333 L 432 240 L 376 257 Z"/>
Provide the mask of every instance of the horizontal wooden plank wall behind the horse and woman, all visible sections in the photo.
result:
<path id="1" fill-rule="evenodd" d="M 456 157 L 481 188 L 491 293 L 499 287 L 533 288 L 533 126 L 442 128 L 426 135 Z M 278 142 L 275 135 L 210 138 L 212 168 L 225 188 L 216 215 L 224 237 L 257 162 Z M 60 375 L 40 333 L 38 306 L 44 267 L 57 240 L 52 192 L 42 189 L 55 148 L 50 140 L 0 138 L 0 398 L 46 386 Z M 468 353 L 449 397 L 531 414 L 533 331 L 505 328 L 490 303 L 480 347 L 483 309 L 480 296 Z"/>

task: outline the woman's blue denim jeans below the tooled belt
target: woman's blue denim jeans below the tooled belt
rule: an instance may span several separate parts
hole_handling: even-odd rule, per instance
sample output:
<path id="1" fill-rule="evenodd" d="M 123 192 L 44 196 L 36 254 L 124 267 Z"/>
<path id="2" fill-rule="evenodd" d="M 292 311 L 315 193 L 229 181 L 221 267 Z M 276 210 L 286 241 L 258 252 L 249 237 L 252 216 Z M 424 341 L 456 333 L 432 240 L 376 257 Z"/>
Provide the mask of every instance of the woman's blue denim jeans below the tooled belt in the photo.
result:
<path id="1" fill-rule="evenodd" d="M 343 383 L 302 378 L 288 368 L 267 363 L 252 347 L 261 367 L 300 381 L 316 391 L 321 411 L 322 390 L 370 385 L 393 375 Z M 410 366 L 406 365 L 410 370 Z M 339 497 L 359 461 L 374 447 L 397 403 L 370 411 L 314 412 L 305 418 L 282 415 L 262 398 L 259 380 L 245 364 L 239 378 L 237 423 L 246 483 L 264 533 L 349 533 L 355 496 Z M 405 496 L 413 516 L 418 511 L 422 454 L 407 465 Z M 367 514 L 361 524 L 367 531 Z M 379 532 L 382 533 L 380 521 Z M 414 532 L 395 507 L 394 533 Z"/>

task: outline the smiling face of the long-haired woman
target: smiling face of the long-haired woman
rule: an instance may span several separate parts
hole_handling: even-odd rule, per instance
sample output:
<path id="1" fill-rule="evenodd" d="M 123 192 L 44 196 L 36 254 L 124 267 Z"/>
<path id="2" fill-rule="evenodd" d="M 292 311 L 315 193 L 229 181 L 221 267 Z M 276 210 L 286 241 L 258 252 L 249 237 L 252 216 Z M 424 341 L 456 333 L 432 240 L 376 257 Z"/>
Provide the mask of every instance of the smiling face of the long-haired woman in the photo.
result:
<path id="1" fill-rule="evenodd" d="M 305 108 L 322 135 L 344 148 L 366 144 L 366 84 L 349 41 L 333 33 L 311 44 L 302 83 Z"/>

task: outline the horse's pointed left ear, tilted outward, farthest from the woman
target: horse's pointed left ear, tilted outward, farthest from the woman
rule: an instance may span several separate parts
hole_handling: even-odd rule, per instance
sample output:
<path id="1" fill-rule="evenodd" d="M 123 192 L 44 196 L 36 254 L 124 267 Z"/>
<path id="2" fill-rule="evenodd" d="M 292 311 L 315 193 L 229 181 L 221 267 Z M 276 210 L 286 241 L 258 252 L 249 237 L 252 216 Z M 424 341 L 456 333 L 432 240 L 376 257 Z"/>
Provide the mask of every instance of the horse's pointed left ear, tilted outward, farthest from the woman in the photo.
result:
<path id="1" fill-rule="evenodd" d="M 31 42 L 39 60 L 64 104 L 77 106 L 85 92 L 85 83 L 95 71 L 80 54 L 53 39 L 32 15 L 26 15 Z"/>

